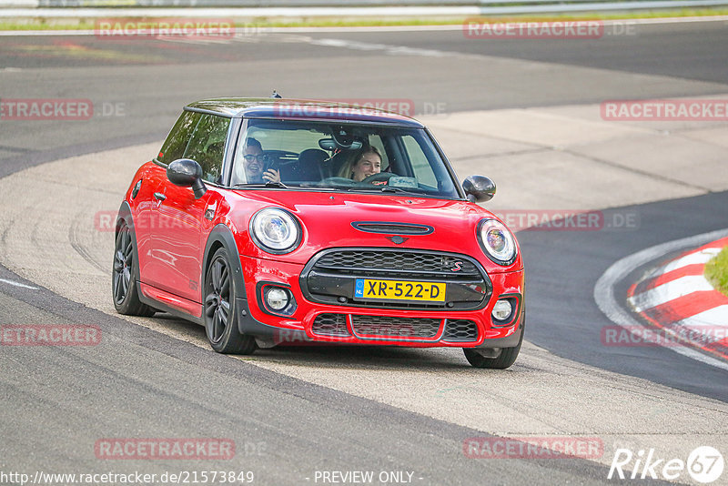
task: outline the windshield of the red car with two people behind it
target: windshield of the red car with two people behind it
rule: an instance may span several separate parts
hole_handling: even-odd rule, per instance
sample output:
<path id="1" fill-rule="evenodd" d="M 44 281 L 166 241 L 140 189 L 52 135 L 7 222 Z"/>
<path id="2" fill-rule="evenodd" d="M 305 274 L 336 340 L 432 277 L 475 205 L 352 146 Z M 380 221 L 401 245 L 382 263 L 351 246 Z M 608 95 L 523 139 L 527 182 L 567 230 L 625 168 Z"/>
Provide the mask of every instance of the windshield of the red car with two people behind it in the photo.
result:
<path id="1" fill-rule="evenodd" d="M 248 119 L 231 184 L 459 197 L 424 129 L 335 122 Z"/>

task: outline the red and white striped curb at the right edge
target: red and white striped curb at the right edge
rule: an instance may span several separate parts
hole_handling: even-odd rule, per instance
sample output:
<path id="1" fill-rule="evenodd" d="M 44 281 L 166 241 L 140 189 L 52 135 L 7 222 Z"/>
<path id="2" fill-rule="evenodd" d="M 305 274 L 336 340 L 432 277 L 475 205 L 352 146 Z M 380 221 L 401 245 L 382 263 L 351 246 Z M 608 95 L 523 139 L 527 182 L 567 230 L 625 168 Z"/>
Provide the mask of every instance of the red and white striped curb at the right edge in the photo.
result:
<path id="1" fill-rule="evenodd" d="M 655 268 L 627 291 L 627 302 L 653 325 L 675 336 L 690 335 L 690 343 L 728 359 L 728 297 L 703 277 L 705 264 L 728 238 L 693 248 Z"/>

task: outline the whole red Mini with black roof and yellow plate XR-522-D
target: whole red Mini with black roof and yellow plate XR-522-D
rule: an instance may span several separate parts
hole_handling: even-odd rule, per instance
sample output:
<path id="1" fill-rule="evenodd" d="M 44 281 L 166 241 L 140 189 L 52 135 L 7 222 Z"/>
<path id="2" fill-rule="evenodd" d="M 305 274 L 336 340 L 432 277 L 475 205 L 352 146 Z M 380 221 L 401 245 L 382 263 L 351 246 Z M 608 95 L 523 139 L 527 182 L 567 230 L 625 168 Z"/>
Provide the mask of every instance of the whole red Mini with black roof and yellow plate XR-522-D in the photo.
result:
<path id="1" fill-rule="evenodd" d="M 116 220 L 113 298 L 203 326 L 213 349 L 462 348 L 505 369 L 523 339 L 516 238 L 419 122 L 360 106 L 184 108 Z"/>

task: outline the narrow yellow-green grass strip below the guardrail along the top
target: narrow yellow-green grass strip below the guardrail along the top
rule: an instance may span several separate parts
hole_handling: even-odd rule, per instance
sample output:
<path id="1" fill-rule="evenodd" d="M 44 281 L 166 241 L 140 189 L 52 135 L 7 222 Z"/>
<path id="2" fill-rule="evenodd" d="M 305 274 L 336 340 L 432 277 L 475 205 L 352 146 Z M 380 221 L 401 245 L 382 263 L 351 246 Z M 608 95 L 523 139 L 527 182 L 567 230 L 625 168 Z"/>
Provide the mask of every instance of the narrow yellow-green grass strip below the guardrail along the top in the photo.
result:
<path id="1" fill-rule="evenodd" d="M 116 10 L 118 12 L 118 10 Z M 692 17 L 728 15 L 728 9 L 680 9 L 644 12 L 593 13 L 581 15 L 491 15 L 477 17 L 480 22 L 554 22 L 573 20 L 632 20 L 640 18 Z M 109 15 L 110 16 L 110 15 Z M 121 15 L 119 15 L 121 16 Z M 215 15 L 213 15 L 215 16 Z M 125 17 L 126 18 L 126 17 Z M 398 26 L 398 25 L 460 25 L 466 18 L 356 18 L 343 19 L 301 17 L 295 19 L 255 18 L 247 21 L 236 20 L 238 27 L 366 27 L 366 26 Z M 154 21 L 153 17 L 136 17 L 137 20 Z M 9 30 L 93 30 L 96 21 L 93 18 L 26 18 L 2 19 L 0 31 Z"/>

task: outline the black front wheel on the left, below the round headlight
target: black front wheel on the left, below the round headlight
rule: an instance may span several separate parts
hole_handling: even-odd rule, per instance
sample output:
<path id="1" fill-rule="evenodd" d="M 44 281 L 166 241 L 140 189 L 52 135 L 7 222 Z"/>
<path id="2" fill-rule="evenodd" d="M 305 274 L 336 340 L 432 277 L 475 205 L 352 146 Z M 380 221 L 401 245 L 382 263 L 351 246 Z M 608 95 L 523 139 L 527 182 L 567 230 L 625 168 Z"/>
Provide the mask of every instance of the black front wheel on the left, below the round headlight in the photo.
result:
<path id="1" fill-rule="evenodd" d="M 252 354 L 258 346 L 252 336 L 238 330 L 235 299 L 238 292 L 225 248 L 218 248 L 207 266 L 203 295 L 205 332 L 212 349 L 218 353 Z"/>

